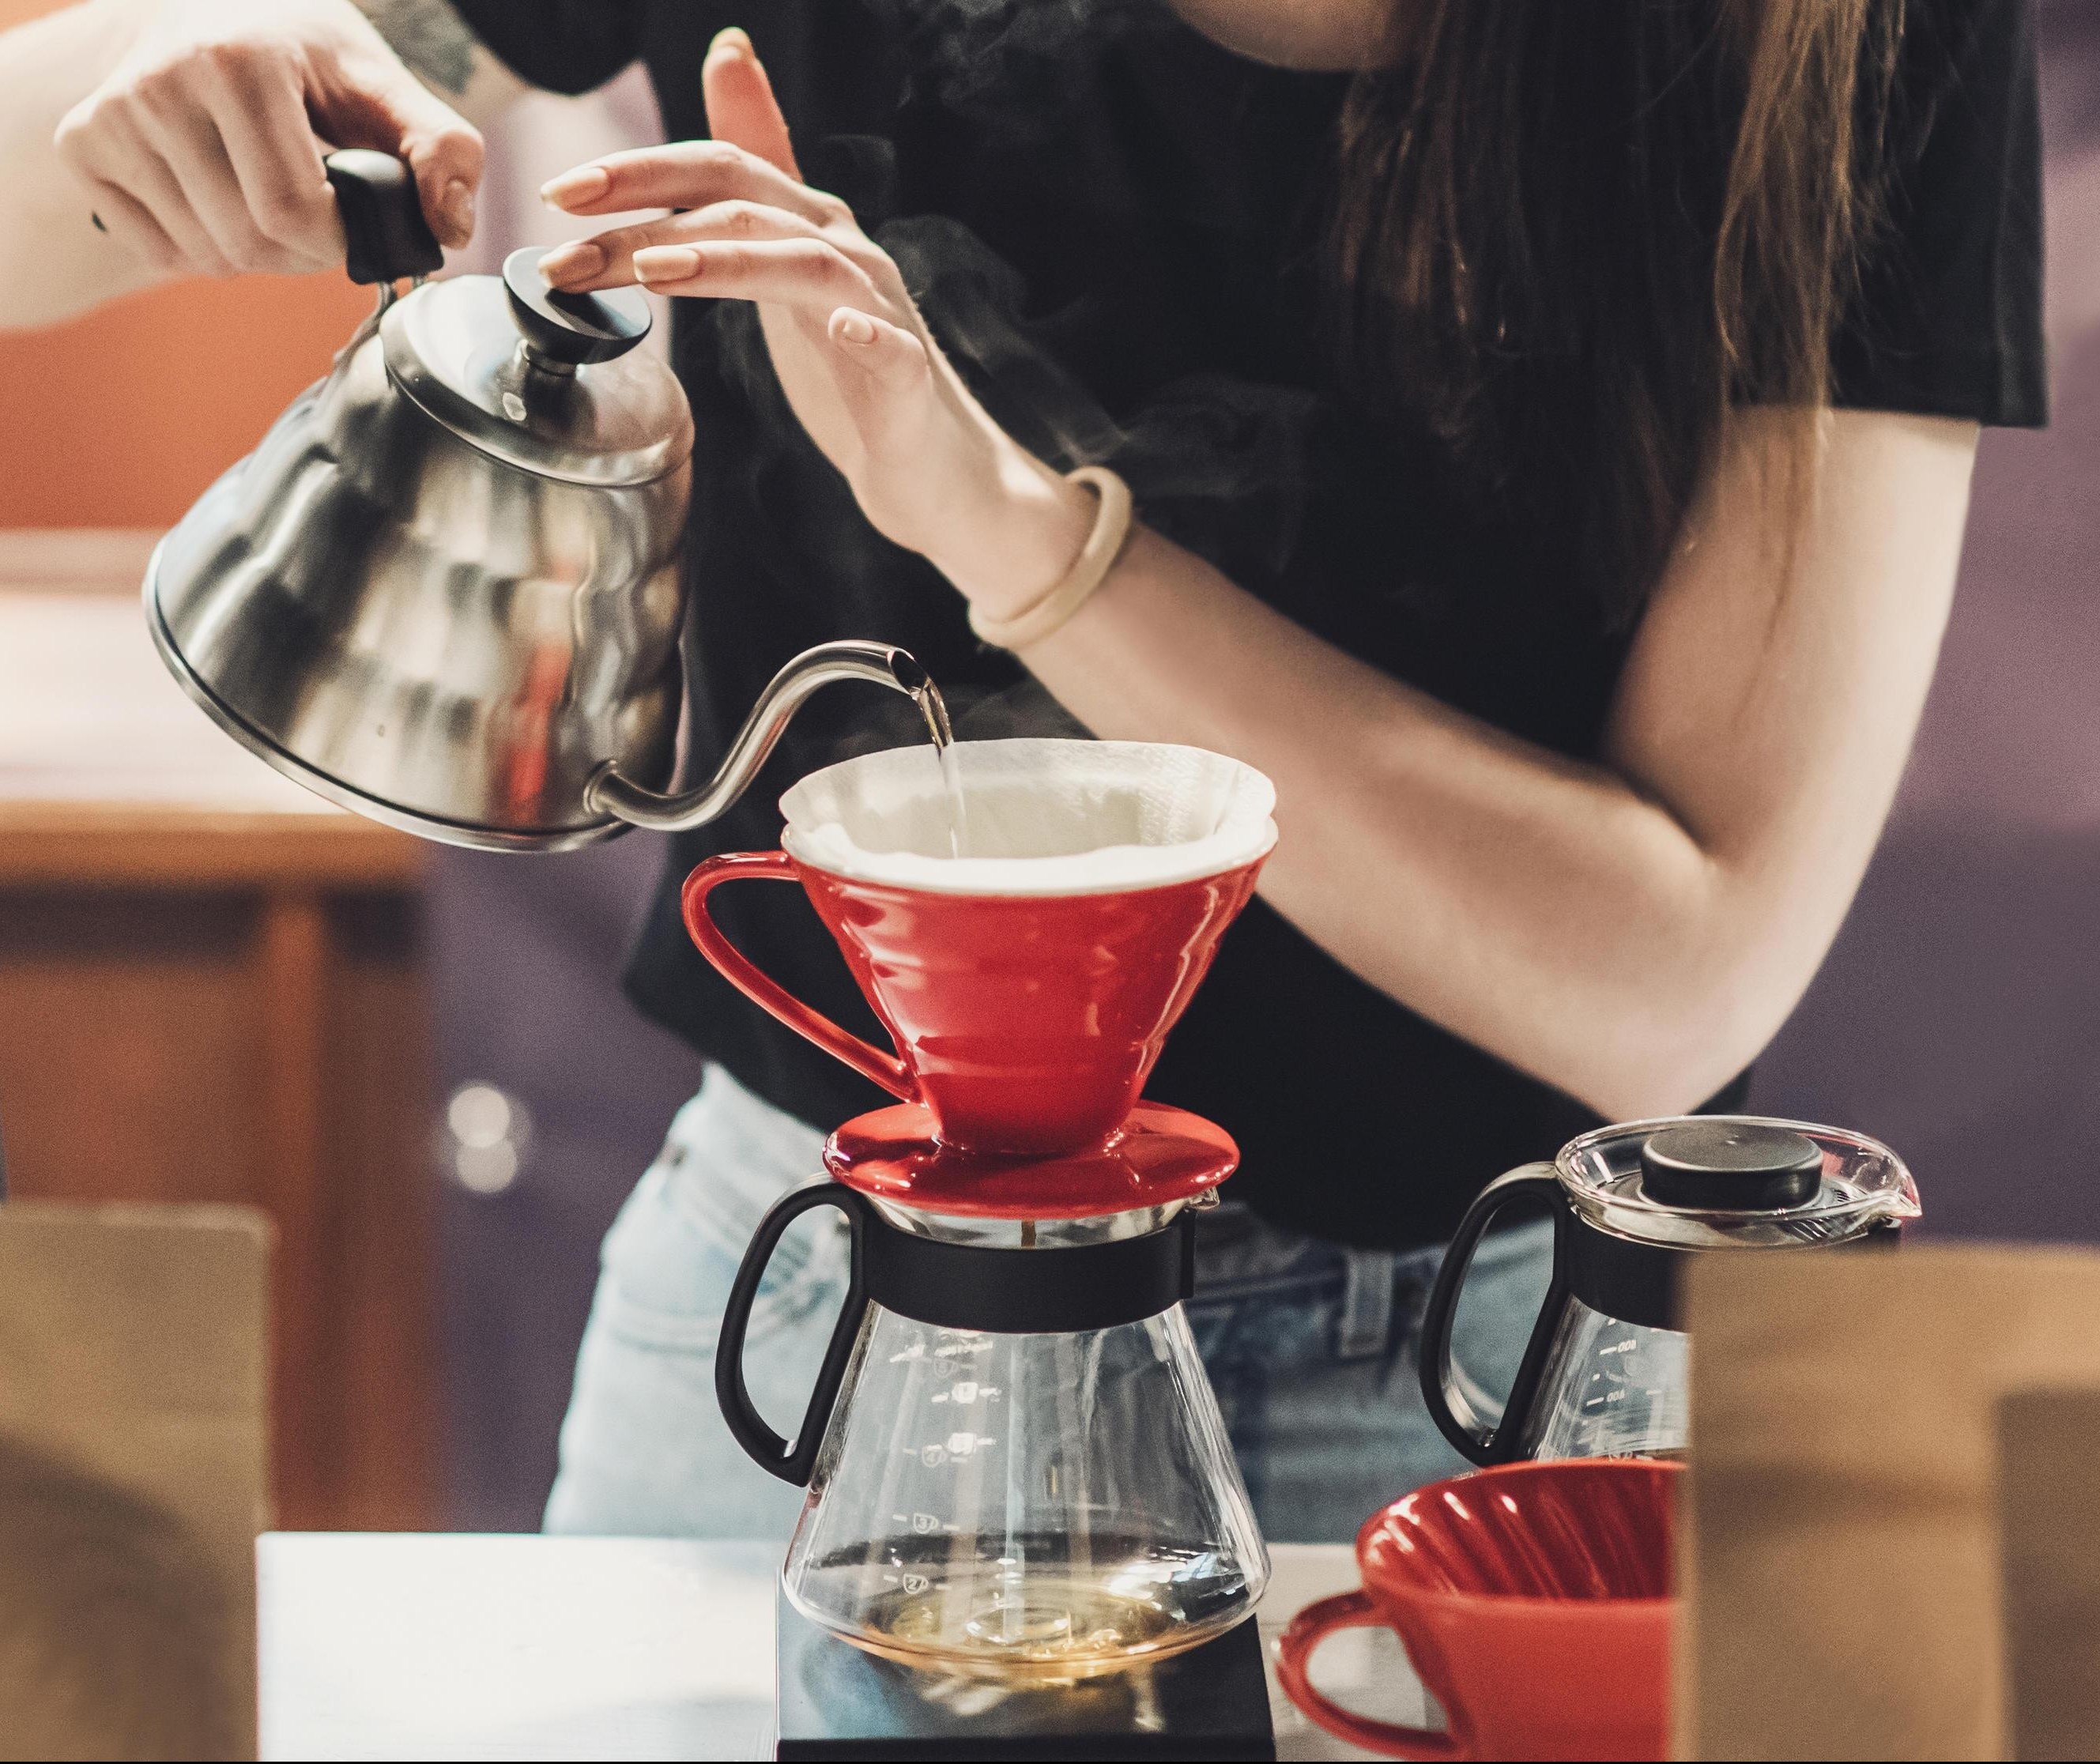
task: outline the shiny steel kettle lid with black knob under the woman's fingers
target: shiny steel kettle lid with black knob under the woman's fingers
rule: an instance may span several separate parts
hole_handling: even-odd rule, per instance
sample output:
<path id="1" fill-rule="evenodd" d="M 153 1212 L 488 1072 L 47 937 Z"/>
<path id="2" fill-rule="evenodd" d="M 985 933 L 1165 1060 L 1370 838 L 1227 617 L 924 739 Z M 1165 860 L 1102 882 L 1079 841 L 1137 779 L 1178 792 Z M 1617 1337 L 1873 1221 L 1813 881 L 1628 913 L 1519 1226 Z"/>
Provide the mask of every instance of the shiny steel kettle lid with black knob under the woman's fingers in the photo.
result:
<path id="1" fill-rule="evenodd" d="M 504 273 L 430 281 L 380 317 L 386 374 L 470 447 L 563 483 L 651 483 L 691 458 L 693 414 L 634 290 L 563 294 L 525 246 Z"/>

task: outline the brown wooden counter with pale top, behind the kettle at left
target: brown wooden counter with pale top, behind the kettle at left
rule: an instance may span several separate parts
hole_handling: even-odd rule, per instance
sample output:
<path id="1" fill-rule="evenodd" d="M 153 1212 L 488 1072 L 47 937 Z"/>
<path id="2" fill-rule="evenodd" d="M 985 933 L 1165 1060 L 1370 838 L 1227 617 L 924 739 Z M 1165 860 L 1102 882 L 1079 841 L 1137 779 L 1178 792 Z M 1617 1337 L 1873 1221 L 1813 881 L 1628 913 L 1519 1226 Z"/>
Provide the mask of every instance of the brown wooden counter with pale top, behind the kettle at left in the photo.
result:
<path id="1" fill-rule="evenodd" d="M 15 1193 L 277 1224 L 279 1522 L 435 1518 L 422 844 L 168 676 L 151 533 L 0 531 L 0 1121 Z"/>

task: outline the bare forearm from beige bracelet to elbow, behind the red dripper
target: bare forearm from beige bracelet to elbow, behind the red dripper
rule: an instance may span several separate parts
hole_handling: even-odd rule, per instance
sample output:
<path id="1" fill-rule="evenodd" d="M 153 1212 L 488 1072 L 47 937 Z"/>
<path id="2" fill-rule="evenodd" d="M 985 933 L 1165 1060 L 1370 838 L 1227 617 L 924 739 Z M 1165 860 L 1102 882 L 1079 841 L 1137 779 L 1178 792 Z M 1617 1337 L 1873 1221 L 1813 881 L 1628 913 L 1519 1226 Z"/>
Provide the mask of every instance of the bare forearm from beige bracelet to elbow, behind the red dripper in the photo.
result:
<path id="1" fill-rule="evenodd" d="M 1606 1113 L 1672 1102 L 1628 1075 L 1716 983 L 1724 878 L 1621 777 L 1392 680 L 1142 529 L 1027 662 L 1098 735 L 1266 771 L 1283 838 L 1262 892 L 1352 972 Z M 1678 1054 L 1661 1090 L 1697 1090 Z"/>

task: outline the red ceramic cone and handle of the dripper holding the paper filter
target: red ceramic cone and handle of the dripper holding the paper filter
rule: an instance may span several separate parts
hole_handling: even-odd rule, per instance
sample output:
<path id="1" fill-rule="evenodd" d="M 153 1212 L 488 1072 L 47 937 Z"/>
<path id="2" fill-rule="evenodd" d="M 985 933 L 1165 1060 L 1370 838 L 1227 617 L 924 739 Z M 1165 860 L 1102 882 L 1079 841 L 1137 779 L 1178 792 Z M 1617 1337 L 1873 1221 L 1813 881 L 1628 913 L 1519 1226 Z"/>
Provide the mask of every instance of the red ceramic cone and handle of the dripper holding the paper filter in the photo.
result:
<path id="1" fill-rule="evenodd" d="M 785 850 L 710 857 L 685 926 L 781 1023 L 922 1102 L 943 1144 L 1058 1155 L 1130 1115 L 1262 859 L 1218 876 L 1077 895 L 951 895 L 836 876 Z M 840 1029 L 760 972 L 708 914 L 724 882 L 800 882 L 897 1052 Z"/>

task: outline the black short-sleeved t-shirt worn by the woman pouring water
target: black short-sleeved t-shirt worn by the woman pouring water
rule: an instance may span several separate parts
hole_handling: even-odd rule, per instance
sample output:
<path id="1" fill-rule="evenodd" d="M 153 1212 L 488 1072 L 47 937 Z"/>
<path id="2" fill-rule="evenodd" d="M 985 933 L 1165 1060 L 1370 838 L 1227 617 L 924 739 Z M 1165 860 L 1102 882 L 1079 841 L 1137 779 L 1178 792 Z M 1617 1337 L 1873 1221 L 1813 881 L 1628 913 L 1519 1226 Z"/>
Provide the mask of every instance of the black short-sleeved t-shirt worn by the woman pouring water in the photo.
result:
<path id="1" fill-rule="evenodd" d="M 1558 754 L 1592 756 L 1630 632 L 1552 594 L 1552 533 L 1478 498 L 1422 435 L 1373 424 L 1317 349 L 1321 218 L 1346 82 L 1243 61 L 1161 0 L 456 0 L 527 80 L 586 90 L 647 61 L 672 139 L 741 23 L 804 174 L 853 202 L 989 410 L 1060 464 L 1107 460 L 1144 519 L 1329 643 Z M 1911 0 L 1890 235 L 1838 353 L 1844 403 L 2043 418 L 2039 145 L 2024 0 Z M 825 638 L 911 649 L 962 737 L 1060 712 L 976 645 L 962 598 L 861 519 L 802 437 L 737 302 L 680 302 L 697 447 L 689 743 L 724 752 L 773 670 Z M 817 1126 L 882 1094 L 735 993 L 676 882 L 779 840 L 777 798 L 920 739 L 878 689 L 830 687 L 720 821 L 678 836 L 628 972 L 636 1004 Z M 729 934 L 792 991 L 880 1029 L 794 888 L 724 888 Z M 1392 899 L 1405 914 L 1407 901 Z M 1241 1144 L 1233 1193 L 1359 1245 L 1449 1235 L 1483 1182 L 1596 1117 L 1365 985 L 1256 901 L 1147 1094 Z"/>

